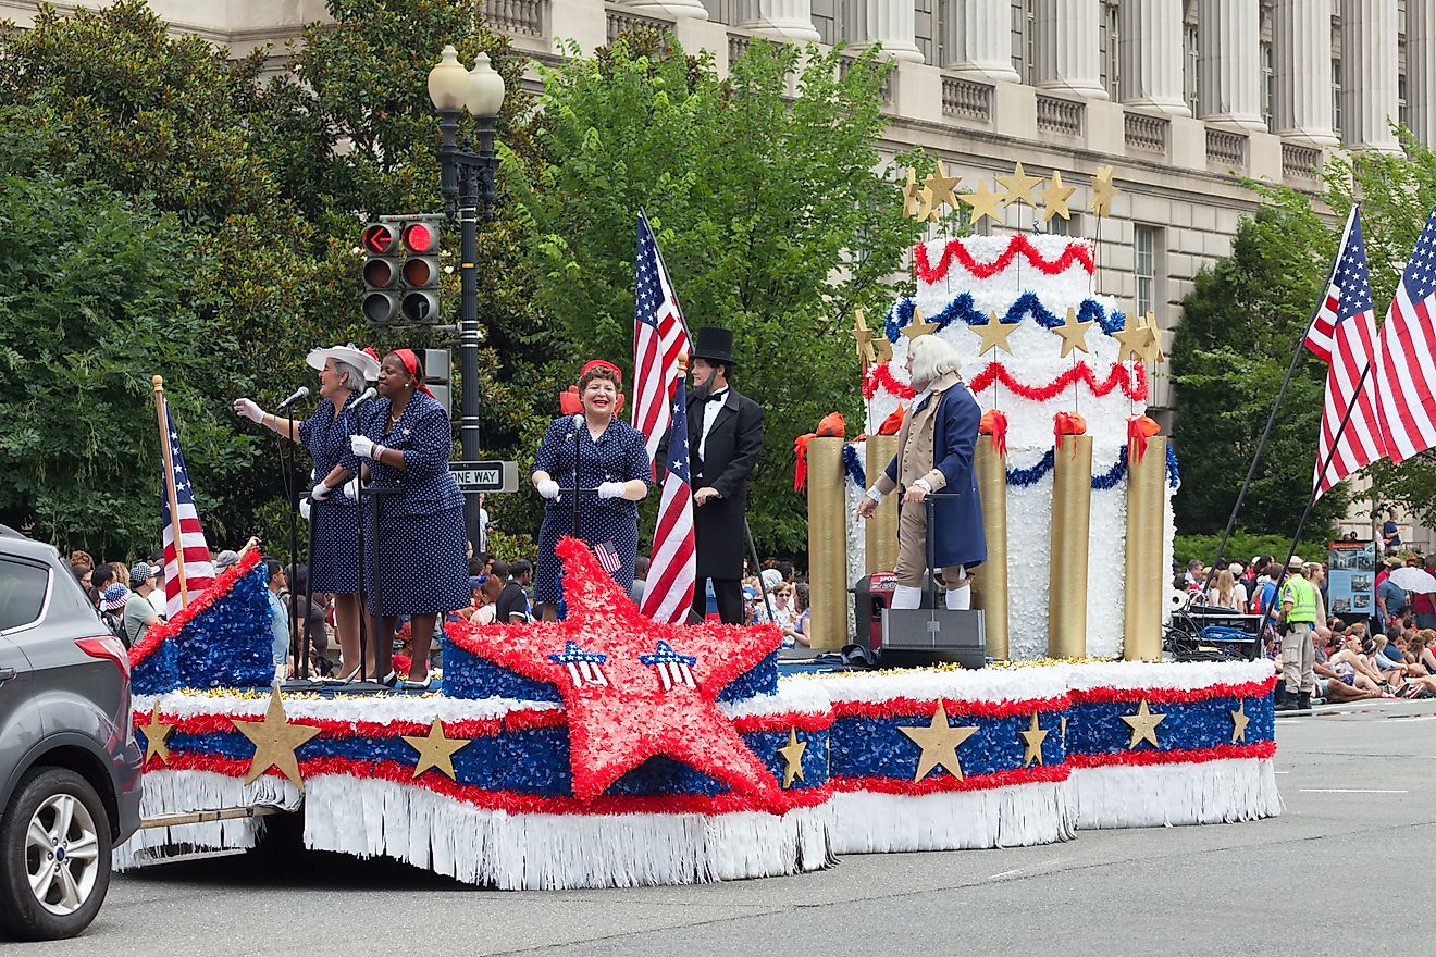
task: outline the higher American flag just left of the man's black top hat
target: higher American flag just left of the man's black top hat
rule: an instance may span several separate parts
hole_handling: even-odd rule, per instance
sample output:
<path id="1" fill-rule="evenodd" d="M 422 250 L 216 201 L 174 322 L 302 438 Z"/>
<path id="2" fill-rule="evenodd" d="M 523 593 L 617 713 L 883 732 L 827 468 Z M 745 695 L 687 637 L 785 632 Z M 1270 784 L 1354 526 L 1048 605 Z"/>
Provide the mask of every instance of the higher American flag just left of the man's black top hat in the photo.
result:
<path id="1" fill-rule="evenodd" d="M 648 440 L 652 462 L 672 415 L 669 400 L 678 383 L 678 353 L 691 347 L 663 255 L 642 211 L 638 214 L 633 271 L 633 428 Z"/>

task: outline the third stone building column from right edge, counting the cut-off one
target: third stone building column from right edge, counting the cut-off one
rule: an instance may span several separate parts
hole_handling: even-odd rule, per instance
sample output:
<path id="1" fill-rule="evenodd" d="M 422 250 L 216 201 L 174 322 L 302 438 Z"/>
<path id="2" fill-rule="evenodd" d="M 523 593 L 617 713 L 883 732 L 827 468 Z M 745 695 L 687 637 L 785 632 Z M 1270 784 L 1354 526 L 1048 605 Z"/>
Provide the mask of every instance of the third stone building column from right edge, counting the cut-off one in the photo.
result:
<path id="1" fill-rule="evenodd" d="M 1407 56 L 1410 46 L 1407 44 Z M 1272 128 L 1302 145 L 1335 146 L 1331 129 L 1331 0 L 1277 0 Z"/>

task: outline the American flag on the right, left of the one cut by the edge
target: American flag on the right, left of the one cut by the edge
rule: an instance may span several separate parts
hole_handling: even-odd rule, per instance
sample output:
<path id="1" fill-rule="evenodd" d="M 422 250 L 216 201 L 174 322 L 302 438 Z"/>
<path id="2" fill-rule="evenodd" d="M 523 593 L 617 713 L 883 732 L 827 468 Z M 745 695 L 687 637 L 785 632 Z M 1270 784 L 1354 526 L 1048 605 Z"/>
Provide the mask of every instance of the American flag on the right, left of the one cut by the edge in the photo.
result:
<path id="1" fill-rule="evenodd" d="M 1317 498 L 1351 472 L 1386 455 L 1376 409 L 1376 377 L 1367 373 L 1376 340 L 1366 244 L 1361 241 L 1361 220 L 1353 207 L 1331 267 L 1331 283 L 1305 340 L 1307 349 L 1327 363 L 1327 397 L 1321 407 L 1321 435 L 1311 479 Z M 1337 440 L 1347 407 L 1351 407 L 1351 418 Z M 1325 473 L 1320 473 L 1328 461 Z"/>

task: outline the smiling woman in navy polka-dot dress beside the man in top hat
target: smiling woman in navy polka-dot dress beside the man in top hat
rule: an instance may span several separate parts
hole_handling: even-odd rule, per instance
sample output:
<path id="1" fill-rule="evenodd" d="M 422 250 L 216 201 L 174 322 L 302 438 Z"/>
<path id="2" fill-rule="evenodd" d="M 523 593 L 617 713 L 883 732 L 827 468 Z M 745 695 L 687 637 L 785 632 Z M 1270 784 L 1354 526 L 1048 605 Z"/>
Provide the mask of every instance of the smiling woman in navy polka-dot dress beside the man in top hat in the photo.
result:
<path id="1" fill-rule="evenodd" d="M 579 502 L 579 529 L 592 547 L 612 547 L 620 568 L 613 580 L 625 591 L 633 584 L 633 560 L 638 557 L 638 504 L 648 495 L 652 463 L 643 433 L 613 418 L 619 403 L 623 373 L 606 362 L 590 362 L 579 377 L 580 415 L 554 419 L 538 445 L 530 479 L 544 498 L 543 528 L 538 529 L 538 574 L 534 601 L 543 604 L 543 617 L 559 617 L 559 572 L 561 562 L 554 545 L 563 535 L 573 535 L 574 429 L 579 433 L 577 486 L 597 489 Z"/>

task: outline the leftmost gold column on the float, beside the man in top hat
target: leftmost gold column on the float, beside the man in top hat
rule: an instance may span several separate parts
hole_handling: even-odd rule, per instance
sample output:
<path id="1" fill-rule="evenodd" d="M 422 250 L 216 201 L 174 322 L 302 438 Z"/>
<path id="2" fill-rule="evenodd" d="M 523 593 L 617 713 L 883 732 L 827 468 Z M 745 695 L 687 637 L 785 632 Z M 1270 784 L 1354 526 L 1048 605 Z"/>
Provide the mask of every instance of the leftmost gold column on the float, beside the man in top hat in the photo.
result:
<path id="1" fill-rule="evenodd" d="M 808 440 L 808 597 L 814 649 L 847 644 L 847 496 L 843 439 Z"/>

